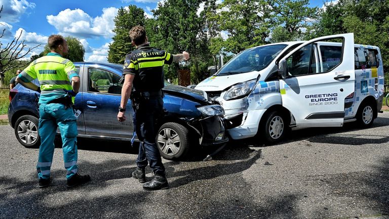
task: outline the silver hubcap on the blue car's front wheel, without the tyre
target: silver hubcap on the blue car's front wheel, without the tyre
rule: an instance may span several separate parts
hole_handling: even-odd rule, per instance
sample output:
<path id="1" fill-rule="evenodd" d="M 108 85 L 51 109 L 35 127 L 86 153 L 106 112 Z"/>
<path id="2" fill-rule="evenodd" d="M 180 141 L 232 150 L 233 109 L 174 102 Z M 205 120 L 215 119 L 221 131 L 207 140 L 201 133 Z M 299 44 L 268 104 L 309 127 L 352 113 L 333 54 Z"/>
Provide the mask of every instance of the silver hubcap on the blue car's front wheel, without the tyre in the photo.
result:
<path id="1" fill-rule="evenodd" d="M 171 128 L 164 128 L 158 133 L 158 147 L 169 156 L 176 155 L 181 148 L 180 136 Z"/>

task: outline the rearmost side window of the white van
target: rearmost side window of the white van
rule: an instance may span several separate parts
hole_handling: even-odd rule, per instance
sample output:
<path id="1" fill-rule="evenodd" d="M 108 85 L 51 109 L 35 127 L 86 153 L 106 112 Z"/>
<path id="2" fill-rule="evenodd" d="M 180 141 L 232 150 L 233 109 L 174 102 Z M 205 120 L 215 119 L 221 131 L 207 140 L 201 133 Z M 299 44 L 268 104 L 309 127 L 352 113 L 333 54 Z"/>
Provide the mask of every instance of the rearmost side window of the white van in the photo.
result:
<path id="1" fill-rule="evenodd" d="M 354 48 L 355 69 L 377 68 L 378 51 L 375 49 Z"/>

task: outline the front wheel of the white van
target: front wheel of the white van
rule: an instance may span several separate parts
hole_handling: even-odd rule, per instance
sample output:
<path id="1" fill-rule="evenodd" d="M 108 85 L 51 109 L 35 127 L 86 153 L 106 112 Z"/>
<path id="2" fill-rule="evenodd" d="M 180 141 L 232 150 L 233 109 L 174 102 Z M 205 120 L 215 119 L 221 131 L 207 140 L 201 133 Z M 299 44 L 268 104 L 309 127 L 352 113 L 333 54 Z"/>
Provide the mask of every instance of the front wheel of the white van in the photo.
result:
<path id="1" fill-rule="evenodd" d="M 289 129 L 285 116 L 279 111 L 273 111 L 264 115 L 263 118 L 265 120 L 258 130 L 260 136 L 263 138 L 262 140 L 269 144 L 281 141 Z"/>

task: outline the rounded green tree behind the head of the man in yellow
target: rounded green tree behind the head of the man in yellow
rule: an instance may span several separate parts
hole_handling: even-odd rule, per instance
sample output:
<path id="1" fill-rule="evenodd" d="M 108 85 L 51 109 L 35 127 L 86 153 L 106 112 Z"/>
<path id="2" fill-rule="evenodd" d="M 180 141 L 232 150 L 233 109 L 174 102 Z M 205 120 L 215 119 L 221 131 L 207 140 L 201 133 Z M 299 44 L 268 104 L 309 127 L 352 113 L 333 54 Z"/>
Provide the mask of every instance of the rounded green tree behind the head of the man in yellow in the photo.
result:
<path id="1" fill-rule="evenodd" d="M 65 40 L 67 42 L 67 46 L 69 47 L 69 53 L 65 58 L 69 59 L 72 62 L 83 62 L 84 55 L 85 55 L 85 48 L 81 44 L 80 40 L 73 36 L 66 36 Z M 45 50 L 41 54 L 31 57 L 31 59 L 45 56 L 49 52 L 50 52 L 49 45 L 46 44 Z"/>

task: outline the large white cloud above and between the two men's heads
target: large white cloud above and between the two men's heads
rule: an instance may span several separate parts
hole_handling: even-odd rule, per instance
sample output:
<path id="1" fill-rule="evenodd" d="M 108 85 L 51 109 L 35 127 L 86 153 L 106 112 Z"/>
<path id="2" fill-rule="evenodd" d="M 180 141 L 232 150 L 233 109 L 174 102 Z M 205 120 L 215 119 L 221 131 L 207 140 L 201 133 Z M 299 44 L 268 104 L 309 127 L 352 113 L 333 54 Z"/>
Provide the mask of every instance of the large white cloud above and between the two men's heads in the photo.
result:
<path id="1" fill-rule="evenodd" d="M 103 14 L 92 18 L 81 9 L 66 9 L 58 15 L 46 16 L 47 21 L 58 31 L 72 34 L 81 38 L 91 38 L 94 36 L 104 36 L 111 38 L 114 28 L 113 19 L 118 13 L 116 8 L 104 8 Z"/>

